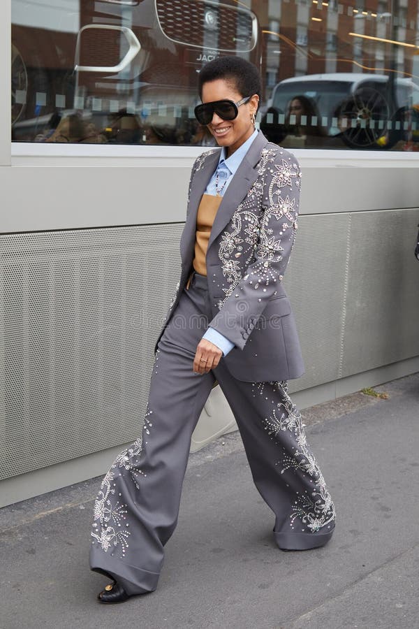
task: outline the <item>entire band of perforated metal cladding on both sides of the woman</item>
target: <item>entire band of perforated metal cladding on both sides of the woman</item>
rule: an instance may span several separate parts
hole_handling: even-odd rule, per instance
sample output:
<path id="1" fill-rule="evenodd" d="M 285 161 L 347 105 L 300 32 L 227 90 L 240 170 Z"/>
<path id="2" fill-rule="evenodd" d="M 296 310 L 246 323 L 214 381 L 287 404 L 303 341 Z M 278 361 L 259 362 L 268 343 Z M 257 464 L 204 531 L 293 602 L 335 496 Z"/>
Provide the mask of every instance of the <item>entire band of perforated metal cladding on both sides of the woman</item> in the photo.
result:
<path id="1" fill-rule="evenodd" d="M 303 215 L 298 391 L 419 355 L 419 210 Z M 0 478 L 130 442 L 182 224 L 0 236 Z M 164 243 L 164 246 L 162 246 Z"/>

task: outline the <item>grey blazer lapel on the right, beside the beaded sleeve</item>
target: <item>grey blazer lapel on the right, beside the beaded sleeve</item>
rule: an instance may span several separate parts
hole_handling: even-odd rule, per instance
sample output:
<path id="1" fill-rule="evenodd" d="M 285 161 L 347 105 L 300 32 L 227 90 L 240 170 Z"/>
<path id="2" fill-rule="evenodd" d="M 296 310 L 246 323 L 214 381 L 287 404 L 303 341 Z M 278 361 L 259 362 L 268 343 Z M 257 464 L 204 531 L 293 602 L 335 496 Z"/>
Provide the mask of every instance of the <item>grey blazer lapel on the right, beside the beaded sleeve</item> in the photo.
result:
<path id="1" fill-rule="evenodd" d="M 258 136 L 256 136 L 254 142 L 251 144 L 242 163 L 239 168 L 237 168 L 237 172 L 233 176 L 230 185 L 228 185 L 226 194 L 223 196 L 223 201 L 221 201 L 218 212 L 216 212 L 210 240 L 208 241 L 208 249 L 210 249 L 214 240 L 219 236 L 219 233 L 221 233 L 228 224 L 237 209 L 237 205 L 243 201 L 253 183 L 258 178 L 258 169 L 256 166 L 260 160 L 260 152 L 266 145 L 267 139 L 263 133 L 259 131 Z"/>

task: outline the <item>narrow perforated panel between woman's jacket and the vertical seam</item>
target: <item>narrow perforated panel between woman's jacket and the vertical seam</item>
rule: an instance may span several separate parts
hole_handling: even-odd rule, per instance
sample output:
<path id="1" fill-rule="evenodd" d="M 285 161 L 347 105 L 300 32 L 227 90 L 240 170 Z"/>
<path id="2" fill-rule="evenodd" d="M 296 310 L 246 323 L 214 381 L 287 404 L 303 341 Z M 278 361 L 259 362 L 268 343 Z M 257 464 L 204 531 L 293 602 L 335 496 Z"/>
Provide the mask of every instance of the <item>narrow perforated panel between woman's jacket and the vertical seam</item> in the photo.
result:
<path id="1" fill-rule="evenodd" d="M 290 390 L 337 378 L 344 304 L 348 214 L 300 216 L 284 286 L 291 299 L 306 371 Z"/>

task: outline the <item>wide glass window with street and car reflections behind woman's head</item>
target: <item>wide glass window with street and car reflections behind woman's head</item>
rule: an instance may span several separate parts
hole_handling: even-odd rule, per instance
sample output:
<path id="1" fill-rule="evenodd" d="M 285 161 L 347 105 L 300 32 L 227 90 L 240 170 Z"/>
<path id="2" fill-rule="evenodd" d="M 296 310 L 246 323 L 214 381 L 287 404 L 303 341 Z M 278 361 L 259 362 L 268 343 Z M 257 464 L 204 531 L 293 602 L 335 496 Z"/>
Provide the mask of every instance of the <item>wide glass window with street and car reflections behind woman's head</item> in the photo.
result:
<path id="1" fill-rule="evenodd" d="M 197 73 L 240 55 L 286 147 L 419 149 L 413 0 L 12 0 L 18 142 L 212 145 Z"/>

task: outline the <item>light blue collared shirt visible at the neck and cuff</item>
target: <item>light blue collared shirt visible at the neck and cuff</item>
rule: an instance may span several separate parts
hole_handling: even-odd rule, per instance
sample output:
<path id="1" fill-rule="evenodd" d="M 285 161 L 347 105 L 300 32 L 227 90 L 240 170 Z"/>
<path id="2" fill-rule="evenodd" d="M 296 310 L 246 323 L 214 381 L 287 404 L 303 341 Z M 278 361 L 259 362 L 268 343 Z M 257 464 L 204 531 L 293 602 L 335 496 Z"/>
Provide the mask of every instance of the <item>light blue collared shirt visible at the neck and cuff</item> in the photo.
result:
<path id="1" fill-rule="evenodd" d="M 247 151 L 250 148 L 250 145 L 253 143 L 253 140 L 258 135 L 258 130 L 255 129 L 251 134 L 250 138 L 246 140 L 240 147 L 238 147 L 235 152 L 230 155 L 230 157 L 226 157 L 226 147 L 221 149 L 220 159 L 218 166 L 210 179 L 210 182 L 207 185 L 207 189 L 205 190 L 205 194 L 217 194 L 224 196 L 226 189 L 230 185 L 230 181 L 233 179 L 237 168 L 239 168 L 240 164 L 242 164 L 244 156 L 247 154 Z M 217 173 L 218 173 L 218 182 L 217 182 Z M 217 184 L 217 185 L 216 185 Z M 203 338 L 209 340 L 214 343 L 221 351 L 224 356 L 227 356 L 228 352 L 234 347 L 234 343 L 232 343 L 226 336 L 220 334 L 216 331 L 216 329 L 209 327 Z"/>

